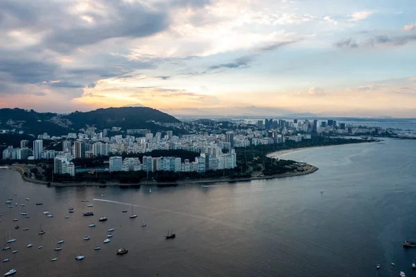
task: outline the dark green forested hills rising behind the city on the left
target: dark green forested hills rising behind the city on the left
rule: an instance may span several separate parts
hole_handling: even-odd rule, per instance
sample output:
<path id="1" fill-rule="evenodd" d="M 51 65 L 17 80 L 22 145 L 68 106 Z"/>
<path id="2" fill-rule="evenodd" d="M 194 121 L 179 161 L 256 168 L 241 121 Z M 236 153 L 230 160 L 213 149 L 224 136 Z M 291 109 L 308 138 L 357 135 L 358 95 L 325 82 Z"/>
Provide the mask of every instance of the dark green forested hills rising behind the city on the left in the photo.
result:
<path id="1" fill-rule="evenodd" d="M 98 129 L 121 127 L 122 129 L 164 129 L 150 120 L 161 123 L 180 122 L 173 116 L 149 107 L 119 107 L 75 111 L 71 114 L 40 113 L 26 109 L 0 109 L 0 129 L 15 129 L 25 134 L 62 135 L 78 132 L 78 129 L 94 126 Z"/>

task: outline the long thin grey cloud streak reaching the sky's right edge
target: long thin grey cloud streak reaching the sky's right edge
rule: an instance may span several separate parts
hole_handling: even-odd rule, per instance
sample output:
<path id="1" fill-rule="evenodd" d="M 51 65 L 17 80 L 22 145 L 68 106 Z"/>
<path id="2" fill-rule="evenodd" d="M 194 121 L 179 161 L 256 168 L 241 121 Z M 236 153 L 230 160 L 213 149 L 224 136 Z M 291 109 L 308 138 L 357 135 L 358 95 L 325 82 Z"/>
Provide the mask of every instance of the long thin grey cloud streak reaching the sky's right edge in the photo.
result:
<path id="1" fill-rule="evenodd" d="M 402 46 L 411 42 L 416 42 L 416 34 L 374 35 L 363 39 L 361 42 L 347 38 L 336 42 L 335 46 L 338 48 L 369 48 L 382 45 Z"/>

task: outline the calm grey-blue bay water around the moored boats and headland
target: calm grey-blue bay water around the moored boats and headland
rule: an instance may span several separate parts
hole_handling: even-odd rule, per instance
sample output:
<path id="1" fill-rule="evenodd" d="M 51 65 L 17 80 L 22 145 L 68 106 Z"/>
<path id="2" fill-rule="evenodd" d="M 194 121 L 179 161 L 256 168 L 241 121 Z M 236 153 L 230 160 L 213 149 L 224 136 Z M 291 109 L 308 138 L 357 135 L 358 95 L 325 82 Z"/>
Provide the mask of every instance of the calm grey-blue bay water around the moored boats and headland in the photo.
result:
<path id="1" fill-rule="evenodd" d="M 144 187 L 46 188 L 1 169 L 0 246 L 11 230 L 17 239 L 12 250 L 19 252 L 0 251 L 1 260 L 5 252 L 10 258 L 0 263 L 0 274 L 15 268 L 16 276 L 46 277 L 416 276 L 416 249 L 401 246 L 404 239 L 416 240 L 416 141 L 314 148 L 285 159 L 320 170 L 268 181 L 152 188 L 149 194 Z M 8 197 L 17 207 L 7 208 Z M 130 204 L 135 220 L 128 218 Z M 68 213 L 70 206 L 75 213 Z M 83 217 L 85 211 L 95 215 Z M 101 216 L 108 221 L 98 222 Z M 103 244 L 112 227 L 114 237 Z M 164 240 L 168 229 L 174 240 Z M 91 240 L 83 241 L 86 235 Z M 62 251 L 53 251 L 60 239 Z M 93 250 L 96 244 L 101 251 Z M 129 253 L 116 256 L 121 247 Z M 85 260 L 75 260 L 79 253 Z"/>

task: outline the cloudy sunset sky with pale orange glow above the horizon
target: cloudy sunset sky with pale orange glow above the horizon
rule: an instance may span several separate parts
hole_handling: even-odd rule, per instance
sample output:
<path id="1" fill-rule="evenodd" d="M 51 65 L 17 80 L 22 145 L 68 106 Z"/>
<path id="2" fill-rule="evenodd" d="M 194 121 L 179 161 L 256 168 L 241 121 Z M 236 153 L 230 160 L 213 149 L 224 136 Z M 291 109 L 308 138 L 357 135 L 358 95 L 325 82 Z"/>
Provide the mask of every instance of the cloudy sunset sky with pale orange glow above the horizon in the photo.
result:
<path id="1" fill-rule="evenodd" d="M 415 0 L 1 0 L 0 108 L 416 117 Z"/>

